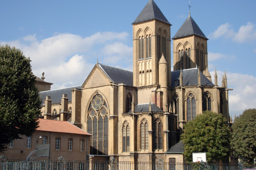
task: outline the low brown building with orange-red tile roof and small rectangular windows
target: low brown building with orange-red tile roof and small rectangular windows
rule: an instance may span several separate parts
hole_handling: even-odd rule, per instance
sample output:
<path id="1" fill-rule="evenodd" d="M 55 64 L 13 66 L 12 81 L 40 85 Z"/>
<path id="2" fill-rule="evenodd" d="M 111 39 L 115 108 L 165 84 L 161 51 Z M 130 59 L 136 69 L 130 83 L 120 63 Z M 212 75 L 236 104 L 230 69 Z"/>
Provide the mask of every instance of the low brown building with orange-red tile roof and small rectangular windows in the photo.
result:
<path id="1" fill-rule="evenodd" d="M 87 160 L 90 136 L 67 121 L 39 119 L 36 131 L 12 140 L 4 155 L 8 159 L 57 160 L 63 156 L 66 160 Z"/>

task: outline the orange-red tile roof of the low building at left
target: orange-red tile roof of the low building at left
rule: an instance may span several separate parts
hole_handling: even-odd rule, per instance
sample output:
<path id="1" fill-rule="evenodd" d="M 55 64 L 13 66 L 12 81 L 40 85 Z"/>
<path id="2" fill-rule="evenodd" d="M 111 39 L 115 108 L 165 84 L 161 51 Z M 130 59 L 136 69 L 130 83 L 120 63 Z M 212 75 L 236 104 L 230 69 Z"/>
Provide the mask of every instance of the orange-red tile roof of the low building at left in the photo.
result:
<path id="1" fill-rule="evenodd" d="M 47 131 L 47 132 L 61 132 L 61 133 L 73 133 L 80 135 L 91 135 L 74 124 L 67 121 L 49 120 L 49 119 L 39 119 L 39 127 L 37 131 Z"/>

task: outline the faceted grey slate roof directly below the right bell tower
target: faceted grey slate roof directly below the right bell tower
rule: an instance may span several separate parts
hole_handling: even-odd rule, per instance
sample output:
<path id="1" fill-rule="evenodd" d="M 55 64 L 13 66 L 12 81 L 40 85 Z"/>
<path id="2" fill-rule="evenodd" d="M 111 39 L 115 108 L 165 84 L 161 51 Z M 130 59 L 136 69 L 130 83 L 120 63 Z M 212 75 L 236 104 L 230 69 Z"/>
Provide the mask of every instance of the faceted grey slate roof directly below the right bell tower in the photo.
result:
<path id="1" fill-rule="evenodd" d="M 197 68 L 190 68 L 190 69 L 182 70 L 182 76 L 183 76 L 182 85 L 198 85 L 197 74 L 198 74 Z M 175 85 L 175 81 L 179 80 L 179 76 L 180 76 L 180 70 L 172 72 L 171 87 L 179 86 L 179 83 L 178 83 L 178 85 L 177 84 Z M 204 74 L 202 72 L 200 72 L 200 77 L 201 77 L 201 85 L 214 85 L 211 81 L 209 81 L 209 79 L 206 76 L 204 76 Z"/>

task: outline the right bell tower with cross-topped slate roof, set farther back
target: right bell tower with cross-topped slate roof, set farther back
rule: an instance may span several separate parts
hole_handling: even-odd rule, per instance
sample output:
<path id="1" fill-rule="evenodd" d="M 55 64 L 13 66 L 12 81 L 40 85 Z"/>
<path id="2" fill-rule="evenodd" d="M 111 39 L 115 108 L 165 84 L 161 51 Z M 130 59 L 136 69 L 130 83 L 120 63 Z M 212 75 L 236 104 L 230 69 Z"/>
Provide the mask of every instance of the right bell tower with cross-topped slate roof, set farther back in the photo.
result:
<path id="1" fill-rule="evenodd" d="M 208 71 L 207 40 L 190 15 L 172 38 L 174 40 L 174 71 L 200 68 Z"/>

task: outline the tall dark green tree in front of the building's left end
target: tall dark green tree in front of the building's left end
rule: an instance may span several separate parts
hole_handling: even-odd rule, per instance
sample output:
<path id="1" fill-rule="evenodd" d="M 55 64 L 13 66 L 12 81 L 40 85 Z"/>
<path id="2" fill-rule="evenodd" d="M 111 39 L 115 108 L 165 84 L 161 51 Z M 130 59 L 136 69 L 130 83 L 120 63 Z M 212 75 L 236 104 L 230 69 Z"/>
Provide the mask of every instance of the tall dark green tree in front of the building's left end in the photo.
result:
<path id="1" fill-rule="evenodd" d="M 10 140 L 29 136 L 38 127 L 39 92 L 30 61 L 22 51 L 0 45 L 0 152 Z"/>

